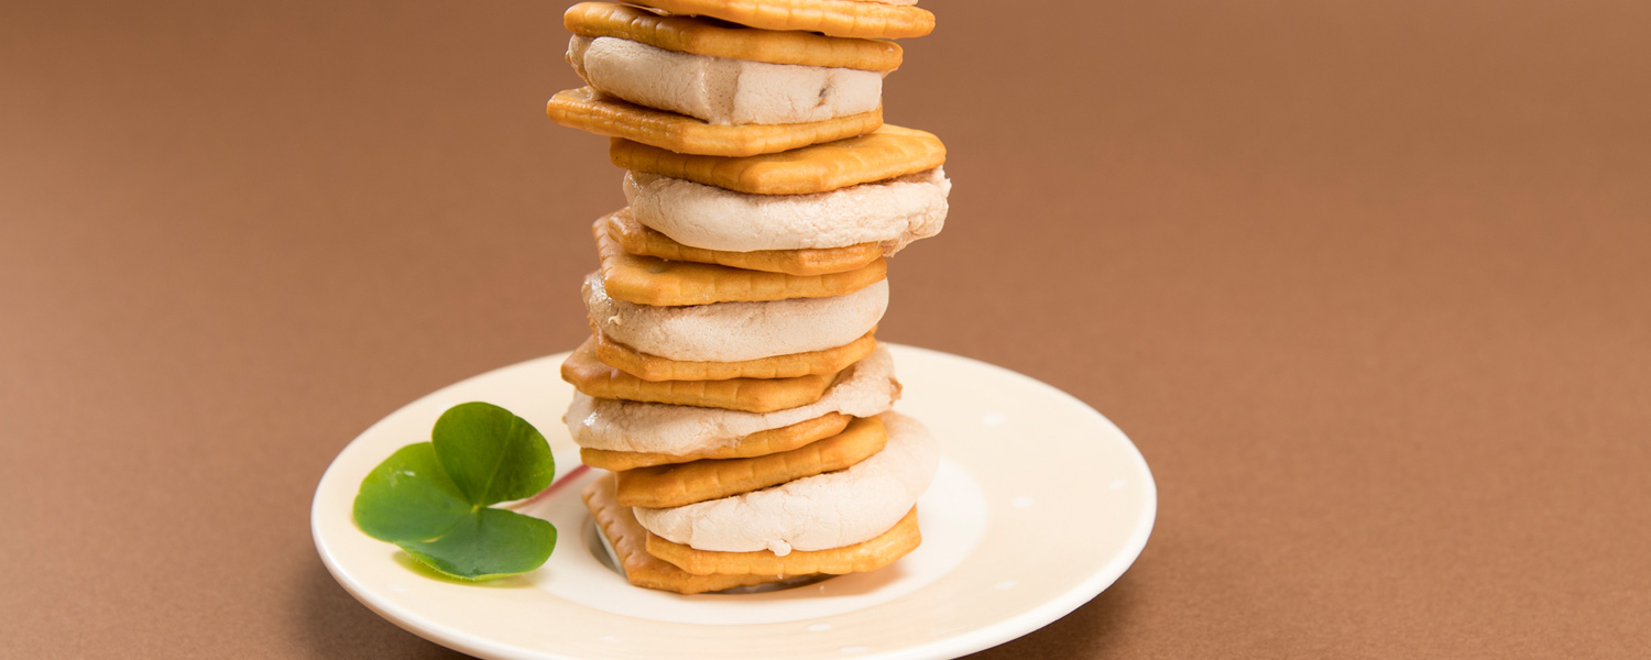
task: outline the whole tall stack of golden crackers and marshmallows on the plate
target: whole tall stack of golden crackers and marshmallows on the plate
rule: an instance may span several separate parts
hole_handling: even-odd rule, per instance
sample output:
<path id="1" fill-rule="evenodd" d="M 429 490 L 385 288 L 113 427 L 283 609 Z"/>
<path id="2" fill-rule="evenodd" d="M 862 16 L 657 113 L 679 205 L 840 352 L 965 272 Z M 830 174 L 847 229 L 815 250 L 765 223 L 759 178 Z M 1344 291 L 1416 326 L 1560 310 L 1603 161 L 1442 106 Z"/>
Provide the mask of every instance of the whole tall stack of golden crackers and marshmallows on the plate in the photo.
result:
<path id="1" fill-rule="evenodd" d="M 641 7 L 639 7 L 641 5 Z M 883 124 L 915 0 L 586 2 L 558 124 L 611 139 L 591 338 L 561 365 L 626 578 L 695 594 L 883 568 L 939 447 L 893 412 L 885 259 L 939 233 L 946 147 Z"/>

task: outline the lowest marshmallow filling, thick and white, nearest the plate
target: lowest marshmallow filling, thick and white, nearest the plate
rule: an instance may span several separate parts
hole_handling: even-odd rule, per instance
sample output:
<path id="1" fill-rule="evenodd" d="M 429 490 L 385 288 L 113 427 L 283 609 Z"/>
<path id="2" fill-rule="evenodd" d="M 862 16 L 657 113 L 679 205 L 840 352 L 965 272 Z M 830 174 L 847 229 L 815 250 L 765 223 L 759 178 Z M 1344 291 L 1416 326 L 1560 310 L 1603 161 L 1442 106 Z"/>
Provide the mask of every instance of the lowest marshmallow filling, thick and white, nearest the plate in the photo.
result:
<path id="1" fill-rule="evenodd" d="M 847 470 L 687 507 L 636 507 L 647 531 L 697 549 L 786 556 L 868 541 L 928 490 L 939 444 L 916 419 L 885 412 L 888 446 Z"/>

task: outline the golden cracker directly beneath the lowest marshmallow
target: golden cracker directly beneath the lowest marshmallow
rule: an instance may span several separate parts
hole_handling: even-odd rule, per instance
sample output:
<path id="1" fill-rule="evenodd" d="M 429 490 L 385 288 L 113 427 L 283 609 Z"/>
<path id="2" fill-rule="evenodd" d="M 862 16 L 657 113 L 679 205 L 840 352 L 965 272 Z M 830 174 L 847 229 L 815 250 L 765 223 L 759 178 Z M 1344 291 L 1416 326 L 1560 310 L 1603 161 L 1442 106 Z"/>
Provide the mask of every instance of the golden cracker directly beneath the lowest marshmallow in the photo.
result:
<path id="1" fill-rule="evenodd" d="M 677 568 L 695 576 L 728 576 L 728 574 L 788 574 L 802 576 L 812 573 L 845 574 L 877 571 L 923 543 L 918 531 L 918 508 L 911 507 L 905 518 L 893 528 L 872 538 L 844 548 L 830 549 L 792 549 L 786 556 L 778 556 L 769 549 L 753 553 L 717 553 L 693 549 L 680 543 L 672 543 L 659 535 L 647 533 L 647 553 L 665 559 Z"/>

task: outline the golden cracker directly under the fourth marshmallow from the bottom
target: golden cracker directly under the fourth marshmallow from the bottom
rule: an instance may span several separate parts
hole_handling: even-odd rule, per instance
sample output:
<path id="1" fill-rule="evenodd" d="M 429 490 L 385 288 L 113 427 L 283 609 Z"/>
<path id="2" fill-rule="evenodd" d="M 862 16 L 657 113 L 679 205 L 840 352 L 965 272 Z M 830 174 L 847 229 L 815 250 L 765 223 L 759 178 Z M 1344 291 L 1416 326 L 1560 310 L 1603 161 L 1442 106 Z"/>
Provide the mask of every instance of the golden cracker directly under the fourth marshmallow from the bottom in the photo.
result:
<path id="1" fill-rule="evenodd" d="M 629 208 L 608 216 L 608 236 L 619 241 L 619 248 L 631 254 L 791 276 L 849 272 L 865 267 L 883 256 L 883 246 L 877 243 L 860 243 L 844 248 L 758 249 L 751 252 L 690 248 L 637 223 L 631 216 Z"/>

